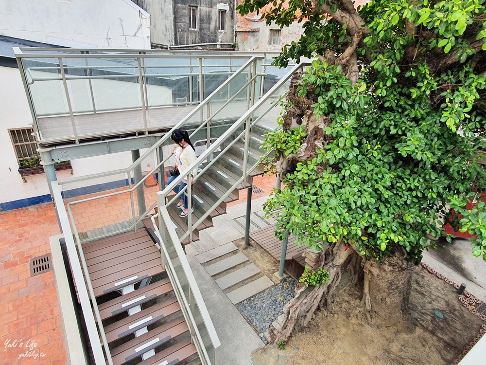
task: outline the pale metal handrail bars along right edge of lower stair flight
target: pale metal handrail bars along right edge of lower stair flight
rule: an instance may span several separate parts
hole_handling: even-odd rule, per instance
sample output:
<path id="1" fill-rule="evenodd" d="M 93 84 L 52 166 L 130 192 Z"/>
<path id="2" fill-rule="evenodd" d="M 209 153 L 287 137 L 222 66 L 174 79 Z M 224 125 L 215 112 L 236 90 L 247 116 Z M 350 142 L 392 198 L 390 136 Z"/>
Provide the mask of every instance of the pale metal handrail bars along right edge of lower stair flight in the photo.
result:
<path id="1" fill-rule="evenodd" d="M 175 232 L 175 229 L 171 226 L 170 223 L 172 223 L 172 220 L 169 216 L 169 212 L 167 211 L 167 208 L 165 206 L 160 207 L 160 211 L 158 211 L 157 214 L 153 215 L 150 217 L 150 220 L 152 221 L 152 224 L 154 225 L 155 228 L 155 234 L 157 238 L 160 241 L 160 252 L 162 256 L 162 262 L 164 263 L 164 269 L 169 275 L 169 278 L 171 279 L 171 282 L 173 283 L 173 287 L 175 284 L 174 292 L 176 293 L 177 299 L 179 302 L 182 302 L 181 304 L 181 309 L 182 313 L 184 314 L 184 317 L 186 319 L 186 322 L 188 322 L 191 326 L 190 328 L 195 332 L 195 338 L 197 341 L 194 341 L 196 348 L 198 349 L 198 353 L 200 357 L 202 357 L 201 361 L 203 362 L 204 365 L 216 365 L 216 361 L 211 362 L 208 356 L 208 352 L 206 350 L 206 347 L 204 346 L 203 339 L 201 337 L 201 334 L 199 332 L 199 329 L 197 328 L 197 323 L 194 319 L 194 316 L 192 315 L 191 311 L 191 305 L 190 303 L 187 302 L 186 296 L 184 295 L 184 290 L 182 288 L 182 285 L 179 281 L 179 278 L 177 276 L 177 272 L 174 269 L 174 264 L 171 260 L 171 257 L 169 255 L 169 252 L 167 251 L 166 243 L 164 242 L 163 238 L 160 235 L 160 230 L 158 228 L 158 224 L 156 223 L 156 218 L 162 219 L 164 221 L 164 225 L 167 229 L 167 232 L 169 233 L 170 239 L 173 243 L 179 242 L 179 238 L 177 237 L 177 233 Z M 169 224 L 168 224 L 169 223 Z M 194 302 L 197 304 L 197 308 L 199 309 L 201 313 L 201 318 L 203 320 L 204 326 L 206 327 L 208 331 L 208 336 L 210 338 L 211 344 L 214 348 L 214 358 L 216 359 L 216 348 L 221 346 L 221 342 L 219 340 L 218 334 L 216 333 L 216 329 L 214 329 L 214 325 L 212 323 L 211 317 L 209 316 L 208 308 L 206 307 L 206 304 L 204 302 L 204 299 L 201 295 L 201 292 L 199 290 L 199 287 L 197 285 L 196 279 L 194 277 L 194 274 L 192 273 L 191 266 L 189 265 L 189 261 L 187 259 L 186 254 L 182 250 L 182 246 L 174 244 L 174 249 L 175 253 L 177 254 L 177 257 L 179 259 L 179 262 L 182 266 L 182 270 L 184 271 L 184 274 L 186 276 L 186 279 L 189 284 L 189 289 L 194 297 Z M 164 257 L 165 256 L 165 257 Z M 167 266 L 169 266 L 170 270 L 167 270 Z M 177 290 L 175 290 L 177 288 Z M 187 316 L 187 317 L 186 317 Z M 194 336 L 191 333 L 191 337 Z M 201 352 L 202 355 L 201 356 Z"/>

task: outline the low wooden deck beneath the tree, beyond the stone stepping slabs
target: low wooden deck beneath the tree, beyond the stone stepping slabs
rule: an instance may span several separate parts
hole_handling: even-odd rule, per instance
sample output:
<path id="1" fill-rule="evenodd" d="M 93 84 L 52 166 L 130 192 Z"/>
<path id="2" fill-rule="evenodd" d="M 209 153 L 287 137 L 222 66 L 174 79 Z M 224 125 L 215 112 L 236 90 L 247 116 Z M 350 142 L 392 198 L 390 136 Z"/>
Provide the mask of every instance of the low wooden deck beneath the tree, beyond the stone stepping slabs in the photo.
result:
<path id="1" fill-rule="evenodd" d="M 250 238 L 253 239 L 263 250 L 269 253 L 277 262 L 280 261 L 282 254 L 282 241 L 280 241 L 274 234 L 275 225 L 261 228 L 250 233 Z M 290 235 L 287 244 L 287 254 L 285 255 L 285 271 L 294 279 L 298 279 L 305 268 L 305 257 L 302 256 L 307 247 L 297 246 L 295 237 Z"/>

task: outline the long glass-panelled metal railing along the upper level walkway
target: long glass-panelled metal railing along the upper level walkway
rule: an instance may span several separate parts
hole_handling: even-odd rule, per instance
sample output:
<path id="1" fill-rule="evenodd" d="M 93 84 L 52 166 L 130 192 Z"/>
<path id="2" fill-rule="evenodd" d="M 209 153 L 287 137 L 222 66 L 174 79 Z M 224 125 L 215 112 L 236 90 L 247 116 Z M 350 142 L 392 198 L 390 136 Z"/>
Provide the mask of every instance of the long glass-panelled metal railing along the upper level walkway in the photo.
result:
<path id="1" fill-rule="evenodd" d="M 188 112 L 248 58 L 263 60 L 262 74 L 278 70 L 264 58 L 273 54 L 28 47 L 15 52 L 44 144 L 171 128 L 160 113 L 168 107 Z M 274 81 L 263 78 L 260 94 Z"/>

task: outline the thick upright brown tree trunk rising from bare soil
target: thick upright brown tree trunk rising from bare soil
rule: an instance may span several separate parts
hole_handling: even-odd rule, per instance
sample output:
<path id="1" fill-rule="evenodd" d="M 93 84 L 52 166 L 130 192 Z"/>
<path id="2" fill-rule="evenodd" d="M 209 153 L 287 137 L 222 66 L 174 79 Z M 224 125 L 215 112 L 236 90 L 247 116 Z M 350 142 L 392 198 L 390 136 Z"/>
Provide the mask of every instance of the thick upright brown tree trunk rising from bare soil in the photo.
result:
<path id="1" fill-rule="evenodd" d="M 386 258 L 382 264 L 373 259 L 364 262 L 363 304 L 376 326 L 413 329 L 408 309 L 412 266 L 399 255 Z"/>

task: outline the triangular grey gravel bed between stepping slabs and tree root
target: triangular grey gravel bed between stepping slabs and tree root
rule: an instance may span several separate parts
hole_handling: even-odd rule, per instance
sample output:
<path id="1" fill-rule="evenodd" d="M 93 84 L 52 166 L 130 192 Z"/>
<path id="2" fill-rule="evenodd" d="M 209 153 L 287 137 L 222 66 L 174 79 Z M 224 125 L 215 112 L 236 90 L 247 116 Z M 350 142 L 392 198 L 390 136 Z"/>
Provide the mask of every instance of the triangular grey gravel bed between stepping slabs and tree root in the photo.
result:
<path id="1" fill-rule="evenodd" d="M 278 285 L 268 288 L 236 305 L 243 317 L 260 331 L 261 340 L 270 325 L 283 313 L 283 307 L 294 297 L 297 282 L 290 276 Z"/>

